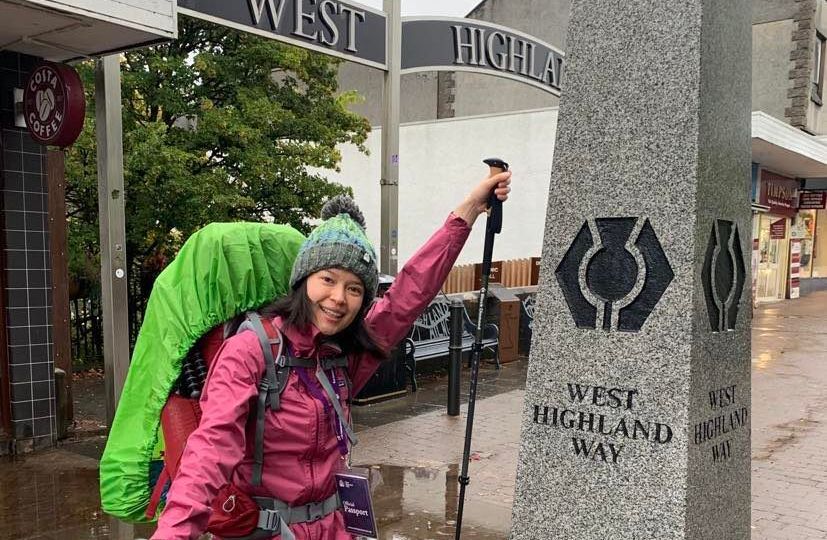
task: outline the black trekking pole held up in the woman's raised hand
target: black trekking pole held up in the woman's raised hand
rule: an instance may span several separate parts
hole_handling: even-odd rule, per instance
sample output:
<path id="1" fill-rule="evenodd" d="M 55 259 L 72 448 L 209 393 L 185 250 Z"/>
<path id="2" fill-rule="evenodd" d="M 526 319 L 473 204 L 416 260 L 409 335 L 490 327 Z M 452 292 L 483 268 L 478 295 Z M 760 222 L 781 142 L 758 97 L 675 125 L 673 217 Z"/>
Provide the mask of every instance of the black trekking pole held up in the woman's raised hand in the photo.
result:
<path id="1" fill-rule="evenodd" d="M 508 163 L 498 158 L 483 160 L 488 165 L 490 175 L 508 170 Z M 459 474 L 459 504 L 457 505 L 457 528 L 455 540 L 460 540 L 462 533 L 462 510 L 465 506 L 465 487 L 468 485 L 468 462 L 471 460 L 471 433 L 474 430 L 474 405 L 477 400 L 477 378 L 480 372 L 482 356 L 482 326 L 485 320 L 485 298 L 488 295 L 488 279 L 491 276 L 491 256 L 494 251 L 494 235 L 499 234 L 503 225 L 503 202 L 491 190 L 488 197 L 488 219 L 485 223 L 485 247 L 482 252 L 482 284 L 480 285 L 479 309 L 477 310 L 477 328 L 474 346 L 471 348 L 471 388 L 468 391 L 468 417 L 465 422 L 465 448 L 462 451 L 462 470 Z"/>

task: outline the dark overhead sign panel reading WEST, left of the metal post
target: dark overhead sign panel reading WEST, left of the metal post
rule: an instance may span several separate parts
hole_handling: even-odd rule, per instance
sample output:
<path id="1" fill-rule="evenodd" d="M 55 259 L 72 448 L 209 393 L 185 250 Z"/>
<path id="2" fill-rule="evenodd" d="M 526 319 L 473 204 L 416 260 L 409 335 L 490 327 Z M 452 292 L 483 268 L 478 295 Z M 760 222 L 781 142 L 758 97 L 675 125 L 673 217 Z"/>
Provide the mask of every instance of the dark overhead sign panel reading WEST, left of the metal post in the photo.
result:
<path id="1" fill-rule="evenodd" d="M 385 69 L 385 14 L 338 0 L 178 0 L 179 13 Z"/>

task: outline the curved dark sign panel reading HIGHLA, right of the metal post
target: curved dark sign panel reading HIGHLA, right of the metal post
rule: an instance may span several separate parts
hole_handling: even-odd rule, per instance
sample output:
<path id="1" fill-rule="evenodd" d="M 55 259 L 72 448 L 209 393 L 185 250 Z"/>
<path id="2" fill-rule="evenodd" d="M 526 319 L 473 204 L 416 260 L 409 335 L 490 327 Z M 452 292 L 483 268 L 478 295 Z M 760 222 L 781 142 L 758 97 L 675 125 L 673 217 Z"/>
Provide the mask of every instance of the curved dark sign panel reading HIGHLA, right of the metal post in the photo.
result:
<path id="1" fill-rule="evenodd" d="M 470 19 L 402 21 L 402 72 L 476 71 L 560 95 L 563 53 L 510 28 Z"/>

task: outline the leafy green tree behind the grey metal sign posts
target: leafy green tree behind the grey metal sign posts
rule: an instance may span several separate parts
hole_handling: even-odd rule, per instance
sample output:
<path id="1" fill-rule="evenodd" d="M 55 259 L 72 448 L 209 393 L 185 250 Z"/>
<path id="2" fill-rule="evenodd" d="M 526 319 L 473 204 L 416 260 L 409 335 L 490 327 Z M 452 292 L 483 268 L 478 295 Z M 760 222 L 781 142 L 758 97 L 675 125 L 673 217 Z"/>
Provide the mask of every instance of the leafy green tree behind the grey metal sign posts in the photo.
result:
<path id="1" fill-rule="evenodd" d="M 178 39 L 121 62 L 126 249 L 148 278 L 214 221 L 272 219 L 306 230 L 349 188 L 327 181 L 336 146 L 365 151 L 367 121 L 337 93 L 330 57 L 182 17 Z M 99 272 L 94 65 L 84 132 L 67 154 L 70 273 Z"/>

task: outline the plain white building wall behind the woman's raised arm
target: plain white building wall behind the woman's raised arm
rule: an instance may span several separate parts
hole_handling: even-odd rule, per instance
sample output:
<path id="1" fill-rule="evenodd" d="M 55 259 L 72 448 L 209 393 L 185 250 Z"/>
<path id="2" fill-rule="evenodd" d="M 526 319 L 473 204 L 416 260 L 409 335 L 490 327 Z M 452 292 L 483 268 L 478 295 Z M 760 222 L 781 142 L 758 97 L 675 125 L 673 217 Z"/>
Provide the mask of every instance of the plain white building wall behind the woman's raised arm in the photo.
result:
<path id="1" fill-rule="evenodd" d="M 439 227 L 470 189 L 488 174 L 486 157 L 514 172 L 494 260 L 539 257 L 543 243 L 557 108 L 404 124 L 400 130 L 399 267 Z M 353 188 L 368 236 L 379 249 L 381 130 L 371 133 L 370 156 L 342 147 L 341 173 L 332 181 Z M 457 264 L 482 260 L 485 216 L 480 216 Z"/>

